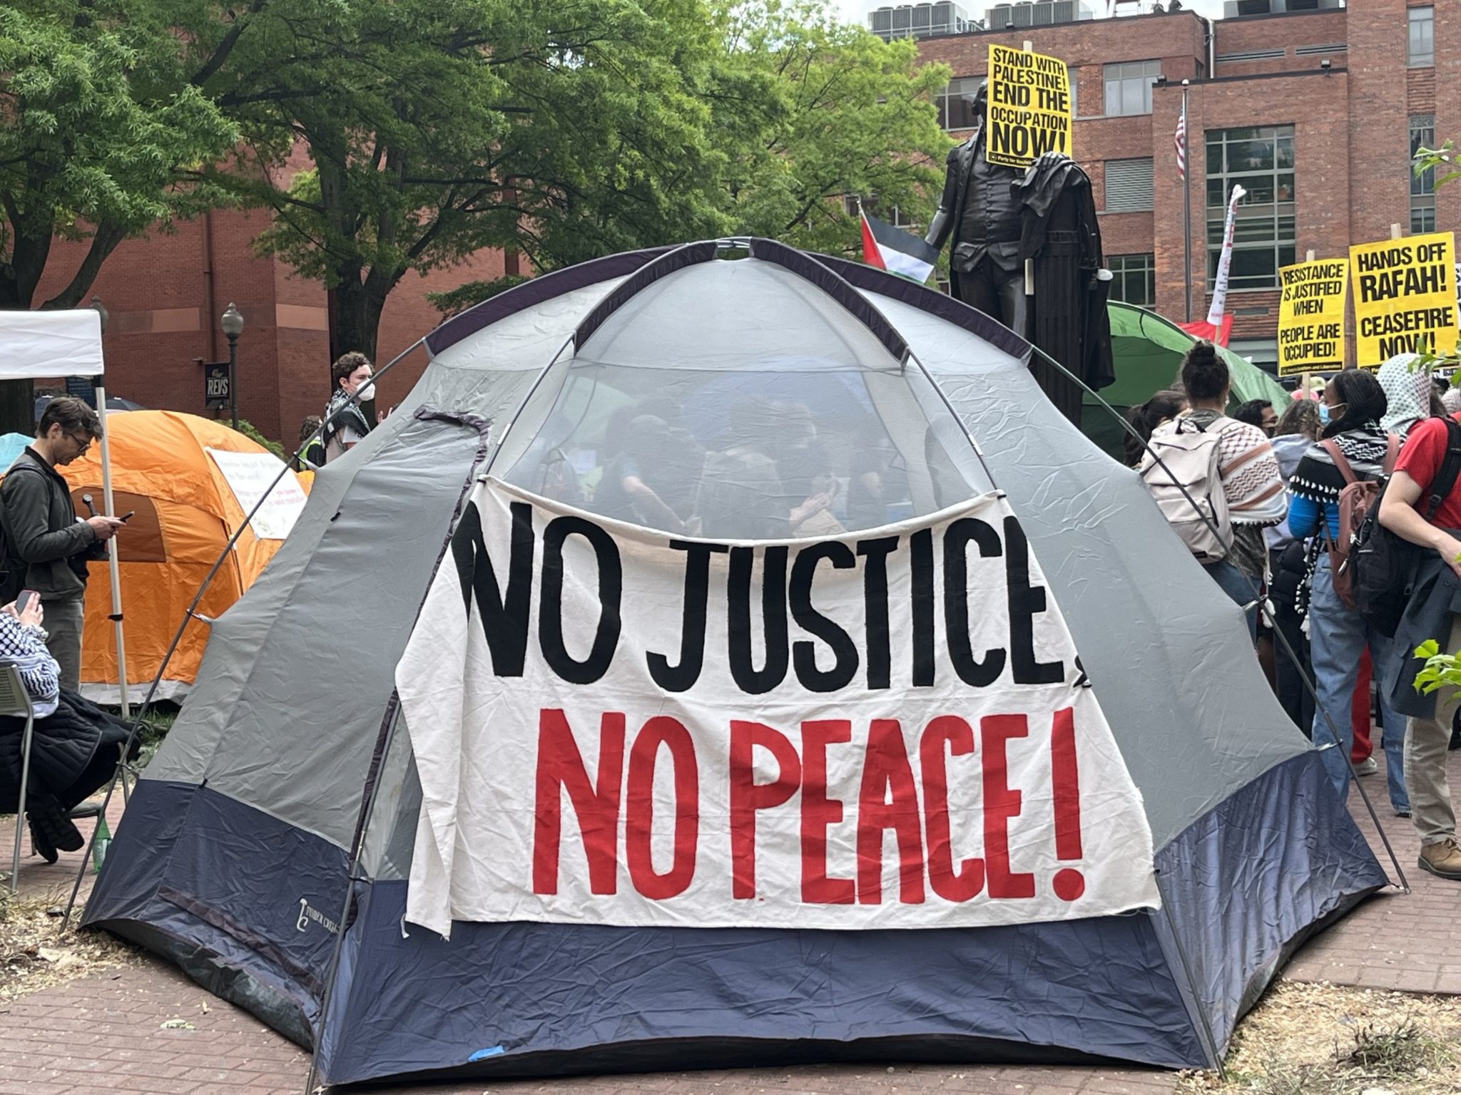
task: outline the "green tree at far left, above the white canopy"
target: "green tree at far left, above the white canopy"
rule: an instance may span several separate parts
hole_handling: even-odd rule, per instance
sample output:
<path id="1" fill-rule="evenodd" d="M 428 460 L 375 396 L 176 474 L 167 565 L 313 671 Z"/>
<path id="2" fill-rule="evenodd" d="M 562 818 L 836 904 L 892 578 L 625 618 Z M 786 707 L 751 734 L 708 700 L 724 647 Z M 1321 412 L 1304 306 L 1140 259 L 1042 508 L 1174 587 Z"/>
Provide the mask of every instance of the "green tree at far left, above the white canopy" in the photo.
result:
<path id="1" fill-rule="evenodd" d="M 0 7 L 0 308 L 72 308 L 129 235 L 210 196 L 181 171 L 235 131 L 193 83 L 169 0 L 19 0 Z M 89 239 L 75 276 L 37 301 L 56 239 Z M 0 428 L 31 426 L 29 384 L 0 384 Z"/>

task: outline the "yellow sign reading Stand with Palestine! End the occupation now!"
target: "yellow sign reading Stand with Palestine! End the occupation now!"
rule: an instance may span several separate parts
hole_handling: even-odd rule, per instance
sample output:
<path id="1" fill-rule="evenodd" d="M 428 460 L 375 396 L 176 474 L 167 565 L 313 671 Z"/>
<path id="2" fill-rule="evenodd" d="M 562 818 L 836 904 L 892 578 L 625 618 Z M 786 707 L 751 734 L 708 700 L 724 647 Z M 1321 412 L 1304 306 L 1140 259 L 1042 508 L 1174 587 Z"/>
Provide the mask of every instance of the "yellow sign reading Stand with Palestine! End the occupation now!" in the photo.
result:
<path id="1" fill-rule="evenodd" d="M 985 159 L 1027 168 L 1046 152 L 1071 155 L 1071 80 L 1065 61 L 991 42 Z"/>

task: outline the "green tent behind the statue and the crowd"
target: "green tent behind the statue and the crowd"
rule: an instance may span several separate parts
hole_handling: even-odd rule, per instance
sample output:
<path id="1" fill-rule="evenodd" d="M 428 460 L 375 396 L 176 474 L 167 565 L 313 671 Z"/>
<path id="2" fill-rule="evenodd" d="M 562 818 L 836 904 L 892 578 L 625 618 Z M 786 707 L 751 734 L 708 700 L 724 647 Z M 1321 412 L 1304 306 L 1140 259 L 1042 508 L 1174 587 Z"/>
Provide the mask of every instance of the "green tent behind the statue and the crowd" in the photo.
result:
<path id="1" fill-rule="evenodd" d="M 1112 301 L 1107 311 L 1116 383 L 1102 388 L 1100 394 L 1125 415 L 1128 407 L 1145 403 L 1156 393 L 1172 387 L 1178 369 L 1182 368 L 1182 355 L 1197 339 L 1147 308 Z M 1251 399 L 1267 399 L 1280 412 L 1287 406 L 1290 394 L 1277 380 L 1223 346 L 1218 346 L 1217 352 L 1223 355 L 1233 375 L 1232 406 Z M 1122 439 L 1126 432 L 1091 396 L 1086 397 L 1081 410 L 1081 432 L 1118 460 L 1122 458 Z"/>

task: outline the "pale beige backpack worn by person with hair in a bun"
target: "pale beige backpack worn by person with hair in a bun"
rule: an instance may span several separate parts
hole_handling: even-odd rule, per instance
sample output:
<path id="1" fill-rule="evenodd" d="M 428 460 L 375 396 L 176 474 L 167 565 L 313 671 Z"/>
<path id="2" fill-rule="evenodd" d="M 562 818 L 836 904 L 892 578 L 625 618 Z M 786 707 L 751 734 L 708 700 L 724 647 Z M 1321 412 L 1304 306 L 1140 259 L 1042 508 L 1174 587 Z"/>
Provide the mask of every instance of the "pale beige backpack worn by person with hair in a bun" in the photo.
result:
<path id="1" fill-rule="evenodd" d="M 1233 546 L 1218 451 L 1223 429 L 1232 422 L 1217 418 L 1205 428 L 1182 418 L 1164 422 L 1151 431 L 1141 458 L 1147 491 L 1198 562 L 1217 562 Z"/>

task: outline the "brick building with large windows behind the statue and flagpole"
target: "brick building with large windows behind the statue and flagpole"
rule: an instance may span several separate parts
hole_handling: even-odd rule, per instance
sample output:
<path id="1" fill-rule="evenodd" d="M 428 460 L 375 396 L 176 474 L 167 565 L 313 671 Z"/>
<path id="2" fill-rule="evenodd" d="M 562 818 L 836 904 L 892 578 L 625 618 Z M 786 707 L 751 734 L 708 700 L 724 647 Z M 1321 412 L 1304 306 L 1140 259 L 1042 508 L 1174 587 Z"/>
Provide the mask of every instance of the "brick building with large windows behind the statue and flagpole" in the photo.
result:
<path id="1" fill-rule="evenodd" d="M 1283 10 L 1300 3 L 1306 10 Z M 1233 347 L 1271 368 L 1277 267 L 1309 250 L 1319 258 L 1347 256 L 1351 242 L 1386 238 L 1397 223 L 1404 234 L 1461 228 L 1461 184 L 1435 191 L 1410 171 L 1419 143 L 1461 142 L 1461 4 L 1337 3 L 1229 0 L 1227 18 L 1213 20 L 1179 10 L 1012 29 L 1020 6 L 1001 6 L 961 32 L 915 29 L 912 36 L 920 38 L 922 57 L 954 69 L 939 108 L 955 137 L 970 124 L 963 95 L 977 86 L 989 42 L 1029 41 L 1069 66 L 1074 153 L 1094 185 L 1113 295 L 1122 299 L 1179 321 L 1205 318 L 1224 194 L 1240 182 L 1249 197 L 1239 210 L 1227 298 Z M 1024 7 L 1080 16 L 1078 4 Z M 982 29 L 996 22 L 1007 29 Z M 958 25 L 945 18 L 942 28 Z M 1183 80 L 1191 317 L 1173 147 Z M 1353 356 L 1353 321 L 1349 330 Z"/>

